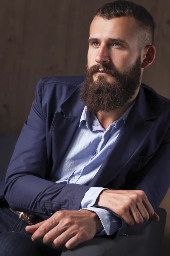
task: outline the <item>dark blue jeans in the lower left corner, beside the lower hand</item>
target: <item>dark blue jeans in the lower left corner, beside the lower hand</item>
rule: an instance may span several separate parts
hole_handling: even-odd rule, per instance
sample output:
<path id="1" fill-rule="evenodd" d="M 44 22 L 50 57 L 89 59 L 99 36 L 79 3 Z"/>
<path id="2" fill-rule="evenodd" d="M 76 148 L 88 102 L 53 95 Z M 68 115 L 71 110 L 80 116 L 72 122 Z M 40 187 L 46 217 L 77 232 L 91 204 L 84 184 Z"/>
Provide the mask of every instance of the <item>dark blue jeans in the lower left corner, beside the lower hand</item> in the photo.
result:
<path id="1" fill-rule="evenodd" d="M 0 256 L 58 256 L 55 250 L 42 240 L 33 242 L 32 233 L 26 232 L 29 224 L 6 207 L 0 208 Z"/>

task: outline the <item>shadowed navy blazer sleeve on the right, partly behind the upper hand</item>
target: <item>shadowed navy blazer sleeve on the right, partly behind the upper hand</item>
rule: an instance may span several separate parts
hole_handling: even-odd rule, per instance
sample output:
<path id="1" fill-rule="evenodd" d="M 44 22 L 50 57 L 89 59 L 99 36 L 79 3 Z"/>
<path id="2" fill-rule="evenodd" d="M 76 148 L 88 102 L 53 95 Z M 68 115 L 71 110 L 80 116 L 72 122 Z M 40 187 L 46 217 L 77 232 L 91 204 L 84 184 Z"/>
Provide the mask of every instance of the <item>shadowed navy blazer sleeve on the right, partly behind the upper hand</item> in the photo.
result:
<path id="1" fill-rule="evenodd" d="M 139 175 L 138 180 L 131 180 L 133 184 L 130 184 L 130 187 L 125 187 L 125 189 L 143 190 L 154 211 L 156 211 L 170 186 L 170 129 L 167 131 L 159 149 L 141 171 L 142 177 Z M 102 208 L 108 209 L 105 207 Z M 118 236 L 122 234 L 135 235 L 141 233 L 147 225 L 150 224 L 149 220 L 144 221 L 142 224 L 130 227 L 127 226 L 125 221 L 115 212 L 112 212 L 110 209 L 108 209 L 108 211 L 110 211 L 114 217 L 118 218 L 119 221 L 122 221 L 122 227 L 117 233 Z"/>

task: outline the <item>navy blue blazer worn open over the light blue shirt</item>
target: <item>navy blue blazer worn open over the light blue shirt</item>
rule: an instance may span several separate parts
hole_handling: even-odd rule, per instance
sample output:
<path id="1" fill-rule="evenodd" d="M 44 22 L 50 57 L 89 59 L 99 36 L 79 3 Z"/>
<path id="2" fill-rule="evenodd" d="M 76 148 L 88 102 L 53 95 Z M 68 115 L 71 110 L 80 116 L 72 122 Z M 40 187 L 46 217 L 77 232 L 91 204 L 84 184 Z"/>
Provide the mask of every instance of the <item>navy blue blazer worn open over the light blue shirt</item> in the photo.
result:
<path id="1" fill-rule="evenodd" d="M 99 186 L 143 190 L 156 210 L 170 185 L 170 100 L 144 84 L 113 150 L 90 184 L 54 182 L 79 126 L 83 80 L 84 76 L 72 76 L 38 82 L 28 120 L 0 185 L 1 202 L 45 220 L 58 210 L 79 210 L 85 192 Z M 129 227 L 112 213 L 122 223 L 117 235 L 139 233 L 150 223 Z"/>

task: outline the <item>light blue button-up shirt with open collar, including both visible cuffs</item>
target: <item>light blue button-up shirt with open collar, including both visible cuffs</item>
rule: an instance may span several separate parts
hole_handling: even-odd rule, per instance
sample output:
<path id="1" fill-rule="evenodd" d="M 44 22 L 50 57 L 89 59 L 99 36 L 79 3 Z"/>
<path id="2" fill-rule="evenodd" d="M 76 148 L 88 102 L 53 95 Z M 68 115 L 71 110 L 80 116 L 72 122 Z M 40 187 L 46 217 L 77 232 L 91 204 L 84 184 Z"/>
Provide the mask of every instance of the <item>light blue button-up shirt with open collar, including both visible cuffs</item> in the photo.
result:
<path id="1" fill-rule="evenodd" d="M 131 108 L 111 123 L 105 130 L 94 113 L 85 106 L 79 123 L 79 128 L 57 170 L 56 183 L 76 183 L 88 185 L 102 166 L 105 157 L 113 148 L 117 137 L 125 123 Z M 81 209 L 87 209 L 99 216 L 104 230 L 98 235 L 111 235 L 119 230 L 121 224 L 106 209 L 93 207 L 99 194 L 105 188 L 91 187 L 81 202 Z"/>

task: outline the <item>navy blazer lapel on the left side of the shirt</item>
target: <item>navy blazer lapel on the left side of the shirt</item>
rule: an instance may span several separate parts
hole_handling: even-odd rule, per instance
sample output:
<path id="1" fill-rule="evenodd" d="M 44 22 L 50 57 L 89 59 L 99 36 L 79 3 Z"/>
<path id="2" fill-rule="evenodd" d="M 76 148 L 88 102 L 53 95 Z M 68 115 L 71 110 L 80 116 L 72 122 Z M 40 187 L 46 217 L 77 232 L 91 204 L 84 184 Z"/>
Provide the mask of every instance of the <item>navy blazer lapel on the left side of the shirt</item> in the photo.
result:
<path id="1" fill-rule="evenodd" d="M 80 118 L 84 109 L 83 102 L 79 99 L 81 84 L 71 96 L 62 103 L 61 113 L 56 112 L 51 125 L 52 160 L 51 178 L 55 180 L 55 173 L 61 163 L 72 139 L 79 127 Z"/>

